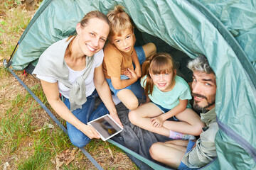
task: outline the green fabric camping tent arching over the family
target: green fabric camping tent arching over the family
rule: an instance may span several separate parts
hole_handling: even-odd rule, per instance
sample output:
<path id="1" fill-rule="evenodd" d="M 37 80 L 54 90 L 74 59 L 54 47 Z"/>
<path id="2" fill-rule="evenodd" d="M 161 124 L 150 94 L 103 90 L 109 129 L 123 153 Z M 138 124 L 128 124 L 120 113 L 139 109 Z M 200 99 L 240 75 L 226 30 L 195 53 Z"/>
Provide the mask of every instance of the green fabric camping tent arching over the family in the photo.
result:
<path id="1" fill-rule="evenodd" d="M 220 130 L 218 157 L 203 169 L 256 169 L 255 0 L 44 0 L 6 67 L 33 69 L 48 46 L 75 33 L 85 13 L 107 13 L 117 4 L 134 21 L 137 41 L 170 52 L 187 81 L 187 60 L 200 54 L 208 58 L 216 74 Z"/>

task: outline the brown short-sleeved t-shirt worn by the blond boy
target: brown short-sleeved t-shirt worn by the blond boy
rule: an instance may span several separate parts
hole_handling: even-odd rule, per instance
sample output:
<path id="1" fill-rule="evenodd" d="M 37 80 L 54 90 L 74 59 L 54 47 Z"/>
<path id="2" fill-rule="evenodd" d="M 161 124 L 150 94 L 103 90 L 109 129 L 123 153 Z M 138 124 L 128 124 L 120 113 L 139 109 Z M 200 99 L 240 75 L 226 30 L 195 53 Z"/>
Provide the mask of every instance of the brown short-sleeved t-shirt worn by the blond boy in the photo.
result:
<path id="1" fill-rule="evenodd" d="M 136 39 L 134 37 L 134 43 Z M 105 78 L 120 77 L 124 75 L 124 70 L 134 69 L 132 65 L 132 55 L 137 55 L 134 47 L 132 52 L 120 52 L 112 43 L 107 42 L 104 48 L 103 72 Z"/>

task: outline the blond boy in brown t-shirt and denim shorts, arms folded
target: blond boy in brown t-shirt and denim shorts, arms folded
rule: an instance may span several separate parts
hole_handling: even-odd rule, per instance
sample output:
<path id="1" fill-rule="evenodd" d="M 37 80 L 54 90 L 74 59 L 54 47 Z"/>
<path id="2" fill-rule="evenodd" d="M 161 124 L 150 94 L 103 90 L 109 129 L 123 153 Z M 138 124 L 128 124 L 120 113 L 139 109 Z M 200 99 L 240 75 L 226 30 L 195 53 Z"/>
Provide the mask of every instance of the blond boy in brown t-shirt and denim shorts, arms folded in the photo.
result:
<path id="1" fill-rule="evenodd" d="M 142 76 L 140 65 L 156 53 L 156 47 L 153 43 L 134 47 L 132 20 L 122 6 L 115 6 L 107 17 L 111 25 L 110 42 L 104 49 L 103 71 L 114 95 L 133 110 L 139 105 L 137 96 L 143 93 L 140 85 L 134 84 Z"/>

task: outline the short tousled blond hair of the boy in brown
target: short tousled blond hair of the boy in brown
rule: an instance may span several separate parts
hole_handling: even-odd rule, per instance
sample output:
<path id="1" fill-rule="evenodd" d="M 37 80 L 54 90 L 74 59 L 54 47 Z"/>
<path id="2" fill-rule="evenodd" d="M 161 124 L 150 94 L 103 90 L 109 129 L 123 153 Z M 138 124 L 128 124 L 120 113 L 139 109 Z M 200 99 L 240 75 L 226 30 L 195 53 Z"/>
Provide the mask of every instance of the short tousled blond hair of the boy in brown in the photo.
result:
<path id="1" fill-rule="evenodd" d="M 114 6 L 114 9 L 107 13 L 107 18 L 110 21 L 109 36 L 120 36 L 122 31 L 127 28 L 133 30 L 132 19 L 124 12 L 124 7 L 121 5 Z"/>

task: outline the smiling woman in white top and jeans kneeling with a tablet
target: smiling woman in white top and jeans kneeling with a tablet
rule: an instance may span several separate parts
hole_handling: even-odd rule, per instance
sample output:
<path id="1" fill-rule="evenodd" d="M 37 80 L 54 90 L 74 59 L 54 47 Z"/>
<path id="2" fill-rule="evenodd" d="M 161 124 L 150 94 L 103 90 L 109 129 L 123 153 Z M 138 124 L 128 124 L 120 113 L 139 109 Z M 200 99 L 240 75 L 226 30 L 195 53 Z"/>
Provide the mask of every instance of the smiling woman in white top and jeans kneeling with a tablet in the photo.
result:
<path id="1" fill-rule="evenodd" d="M 73 145 L 84 147 L 100 135 L 87 122 L 108 112 L 120 125 L 110 88 L 102 71 L 103 50 L 110 25 L 100 11 L 87 13 L 76 26 L 77 35 L 65 38 L 43 52 L 33 71 L 41 79 L 50 106 L 67 121 Z M 96 89 L 96 90 L 95 90 Z M 59 93 L 65 98 L 60 100 Z M 95 98 L 103 103 L 95 111 Z"/>

